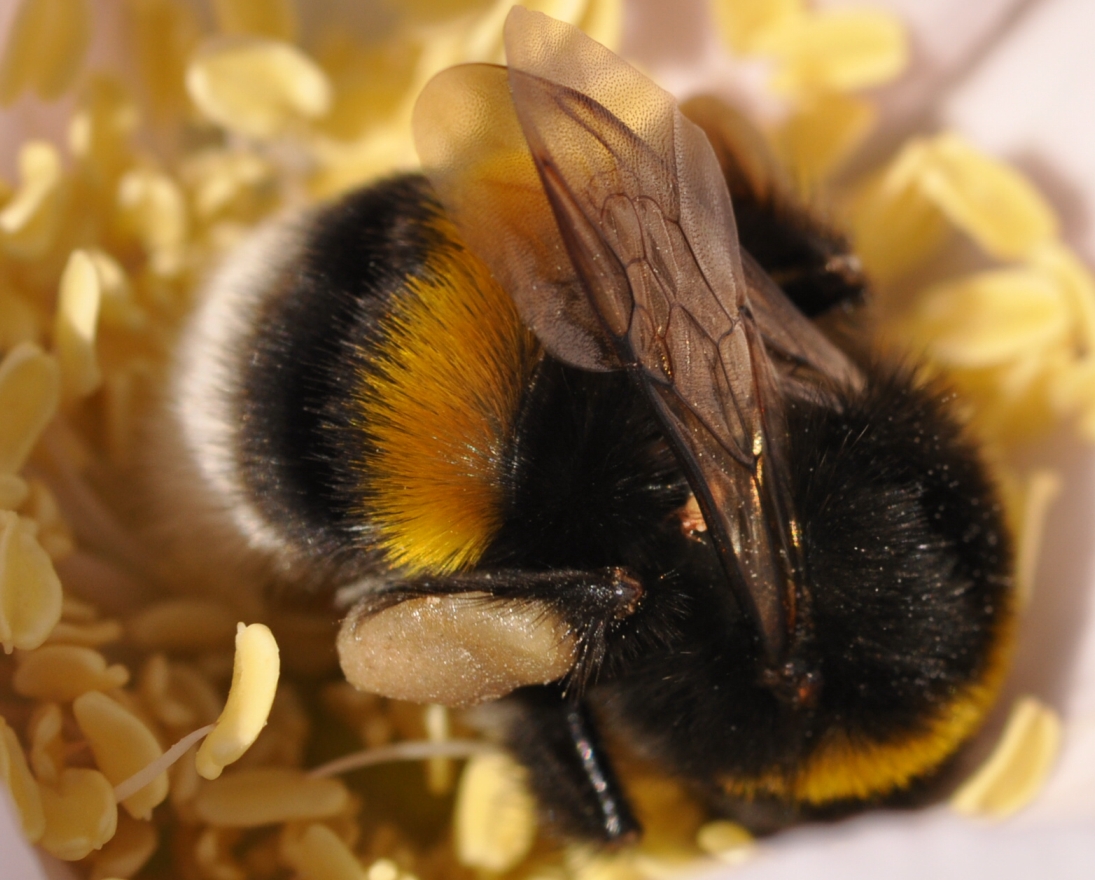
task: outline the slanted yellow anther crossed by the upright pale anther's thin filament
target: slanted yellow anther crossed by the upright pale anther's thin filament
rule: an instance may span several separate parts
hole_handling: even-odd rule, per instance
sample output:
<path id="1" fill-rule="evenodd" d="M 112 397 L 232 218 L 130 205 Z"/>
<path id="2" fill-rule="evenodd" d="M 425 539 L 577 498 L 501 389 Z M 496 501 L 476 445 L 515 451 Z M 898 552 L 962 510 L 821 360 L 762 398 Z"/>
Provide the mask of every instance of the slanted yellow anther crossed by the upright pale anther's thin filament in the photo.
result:
<path id="1" fill-rule="evenodd" d="M 148 726 L 105 694 L 90 691 L 77 697 L 72 714 L 111 785 L 125 781 L 163 754 Z M 168 774 L 161 773 L 122 803 L 134 819 L 150 819 L 152 808 L 166 797 Z"/>

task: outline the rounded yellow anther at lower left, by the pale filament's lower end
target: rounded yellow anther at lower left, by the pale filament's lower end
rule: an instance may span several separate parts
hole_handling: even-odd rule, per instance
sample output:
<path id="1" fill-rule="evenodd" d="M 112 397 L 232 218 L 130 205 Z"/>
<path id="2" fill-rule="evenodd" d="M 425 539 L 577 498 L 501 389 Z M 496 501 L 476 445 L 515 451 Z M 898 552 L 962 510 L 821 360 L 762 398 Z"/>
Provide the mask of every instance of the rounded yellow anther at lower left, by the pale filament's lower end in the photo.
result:
<path id="1" fill-rule="evenodd" d="M 99 849 L 117 829 L 114 788 L 99 771 L 69 767 L 56 786 L 41 785 L 46 827 L 38 845 L 66 861 Z"/>

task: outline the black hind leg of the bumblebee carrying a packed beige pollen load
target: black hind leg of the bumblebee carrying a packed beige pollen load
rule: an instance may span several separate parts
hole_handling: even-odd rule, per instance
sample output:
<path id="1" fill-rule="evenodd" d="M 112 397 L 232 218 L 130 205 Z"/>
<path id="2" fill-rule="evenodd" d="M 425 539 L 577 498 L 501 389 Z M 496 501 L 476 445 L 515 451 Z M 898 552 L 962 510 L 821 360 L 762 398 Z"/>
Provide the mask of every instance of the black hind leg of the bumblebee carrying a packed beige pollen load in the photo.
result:
<path id="1" fill-rule="evenodd" d="M 338 661 L 396 699 L 470 706 L 549 682 L 578 699 L 642 597 L 622 568 L 361 581 L 338 595 Z"/>

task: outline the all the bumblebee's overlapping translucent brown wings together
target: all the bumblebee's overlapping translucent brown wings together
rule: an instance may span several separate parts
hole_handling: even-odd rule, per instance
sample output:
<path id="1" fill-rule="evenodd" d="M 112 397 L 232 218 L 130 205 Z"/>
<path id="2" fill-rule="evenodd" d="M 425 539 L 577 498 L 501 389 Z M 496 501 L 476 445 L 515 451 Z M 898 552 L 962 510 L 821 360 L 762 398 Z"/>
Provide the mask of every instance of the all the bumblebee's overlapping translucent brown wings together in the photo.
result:
<path id="1" fill-rule="evenodd" d="M 798 567 L 784 483 L 789 386 L 756 314 L 786 321 L 774 347 L 819 377 L 842 380 L 845 362 L 774 286 L 757 281 L 758 297 L 775 301 L 752 305 L 718 162 L 668 93 L 575 28 L 519 8 L 506 50 L 509 101 L 496 69 L 427 86 L 415 124 L 426 172 L 553 354 L 634 372 L 779 662 Z M 430 118 L 468 88 L 474 101 L 461 106 L 474 116 Z"/>

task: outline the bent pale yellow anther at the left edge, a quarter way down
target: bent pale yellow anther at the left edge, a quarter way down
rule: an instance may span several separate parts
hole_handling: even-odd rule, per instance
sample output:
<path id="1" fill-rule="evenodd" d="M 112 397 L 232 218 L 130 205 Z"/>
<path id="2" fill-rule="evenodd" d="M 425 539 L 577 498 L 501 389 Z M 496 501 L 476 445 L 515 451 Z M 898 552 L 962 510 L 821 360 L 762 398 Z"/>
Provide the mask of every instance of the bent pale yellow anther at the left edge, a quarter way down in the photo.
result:
<path id="1" fill-rule="evenodd" d="M 0 244 L 16 259 L 36 259 L 54 242 L 61 219 L 64 173 L 57 148 L 30 140 L 19 151 L 20 186 L 0 210 Z"/>

